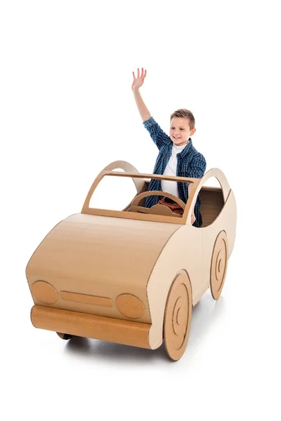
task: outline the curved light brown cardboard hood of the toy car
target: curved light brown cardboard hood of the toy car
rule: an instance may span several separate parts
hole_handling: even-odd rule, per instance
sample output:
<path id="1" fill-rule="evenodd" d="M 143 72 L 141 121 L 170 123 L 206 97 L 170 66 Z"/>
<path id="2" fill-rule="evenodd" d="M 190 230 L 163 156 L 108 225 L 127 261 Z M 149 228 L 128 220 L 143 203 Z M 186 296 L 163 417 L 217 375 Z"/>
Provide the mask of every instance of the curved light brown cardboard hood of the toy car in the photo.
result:
<path id="1" fill-rule="evenodd" d="M 58 293 L 96 295 L 113 302 L 120 294 L 129 293 L 147 307 L 149 276 L 166 242 L 180 227 L 166 222 L 71 215 L 35 250 L 27 265 L 27 281 L 30 287 L 41 280 L 51 283 Z M 64 300 L 59 307 L 78 308 Z M 79 307 L 79 311 L 90 310 L 97 314 L 93 306 Z M 101 307 L 98 314 L 105 315 Z"/>

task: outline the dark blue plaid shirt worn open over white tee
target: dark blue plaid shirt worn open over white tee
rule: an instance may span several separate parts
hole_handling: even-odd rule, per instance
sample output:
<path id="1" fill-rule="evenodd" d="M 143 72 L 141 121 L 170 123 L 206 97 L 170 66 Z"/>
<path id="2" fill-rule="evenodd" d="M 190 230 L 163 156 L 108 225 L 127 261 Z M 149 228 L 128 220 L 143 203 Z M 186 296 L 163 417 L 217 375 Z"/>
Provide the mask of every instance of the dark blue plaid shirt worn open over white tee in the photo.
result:
<path id="1" fill-rule="evenodd" d="M 155 163 L 155 168 L 153 174 L 163 174 L 166 168 L 166 165 L 171 158 L 171 149 L 173 147 L 173 142 L 169 138 L 159 124 L 151 117 L 147 121 L 143 121 L 143 125 L 147 128 L 150 136 L 155 142 L 155 145 L 159 149 L 159 154 Z M 186 147 L 177 154 L 178 164 L 176 167 L 176 175 L 178 177 L 190 177 L 190 178 L 202 178 L 206 170 L 206 160 L 204 156 L 197 152 L 195 147 L 192 145 L 191 138 L 189 139 Z M 188 182 L 178 182 L 178 195 L 183 202 L 188 200 Z M 161 180 L 151 180 L 148 186 L 148 191 L 157 190 L 158 192 L 162 191 Z M 145 200 L 145 207 L 151 208 L 156 205 L 159 201 L 160 196 L 148 196 Z M 197 200 L 195 203 L 194 214 L 196 221 L 193 223 L 194 227 L 201 227 L 202 225 L 202 216 L 200 213 L 200 196 L 198 194 Z"/>

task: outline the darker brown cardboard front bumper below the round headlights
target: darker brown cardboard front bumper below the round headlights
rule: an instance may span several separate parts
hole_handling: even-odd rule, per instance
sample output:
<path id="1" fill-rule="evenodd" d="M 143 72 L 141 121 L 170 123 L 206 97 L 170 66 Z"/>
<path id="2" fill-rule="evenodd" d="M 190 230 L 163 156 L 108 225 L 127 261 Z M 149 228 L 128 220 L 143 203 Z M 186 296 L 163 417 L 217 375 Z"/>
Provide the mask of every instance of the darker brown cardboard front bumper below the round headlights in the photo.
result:
<path id="1" fill-rule="evenodd" d="M 148 323 L 70 312 L 41 305 L 32 307 L 31 321 L 35 328 L 151 349 L 148 342 L 151 325 Z"/>

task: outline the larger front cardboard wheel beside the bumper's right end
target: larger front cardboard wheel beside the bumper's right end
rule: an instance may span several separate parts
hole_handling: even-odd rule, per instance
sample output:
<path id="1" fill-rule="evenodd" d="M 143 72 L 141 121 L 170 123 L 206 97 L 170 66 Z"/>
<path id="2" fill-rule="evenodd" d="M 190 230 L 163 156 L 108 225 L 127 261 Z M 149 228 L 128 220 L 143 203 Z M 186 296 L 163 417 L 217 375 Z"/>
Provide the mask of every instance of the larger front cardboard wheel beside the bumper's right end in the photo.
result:
<path id="1" fill-rule="evenodd" d="M 164 345 L 170 359 L 183 356 L 188 343 L 192 314 L 192 291 L 188 274 L 180 272 L 174 279 L 166 300 Z"/>

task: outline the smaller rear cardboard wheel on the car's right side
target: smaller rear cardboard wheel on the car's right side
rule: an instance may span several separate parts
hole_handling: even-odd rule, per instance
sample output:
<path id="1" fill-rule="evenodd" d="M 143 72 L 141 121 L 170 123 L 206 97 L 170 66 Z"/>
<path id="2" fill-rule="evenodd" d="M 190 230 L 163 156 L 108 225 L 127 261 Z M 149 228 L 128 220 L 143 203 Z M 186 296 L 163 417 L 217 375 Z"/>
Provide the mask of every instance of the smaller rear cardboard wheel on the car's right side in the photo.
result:
<path id="1" fill-rule="evenodd" d="M 210 287 L 214 300 L 218 300 L 223 290 L 228 269 L 228 238 L 225 231 L 216 237 L 213 255 L 211 257 Z"/>

